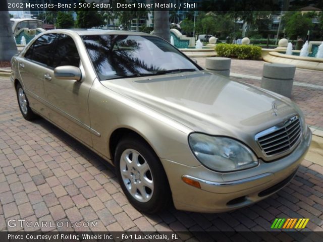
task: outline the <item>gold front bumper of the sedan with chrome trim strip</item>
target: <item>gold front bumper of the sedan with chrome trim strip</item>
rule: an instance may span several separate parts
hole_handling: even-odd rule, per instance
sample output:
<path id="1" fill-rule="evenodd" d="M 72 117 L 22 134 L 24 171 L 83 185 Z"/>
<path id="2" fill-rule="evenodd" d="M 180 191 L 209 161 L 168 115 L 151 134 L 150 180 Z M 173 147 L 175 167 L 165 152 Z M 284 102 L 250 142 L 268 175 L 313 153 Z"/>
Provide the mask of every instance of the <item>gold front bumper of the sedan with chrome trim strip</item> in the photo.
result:
<path id="1" fill-rule="evenodd" d="M 242 171 L 219 173 L 204 166 L 190 167 L 161 159 L 168 176 L 174 205 L 179 210 L 225 212 L 258 202 L 285 187 L 307 153 L 311 131 L 288 156 Z M 182 177 L 199 182 L 201 188 L 184 183 Z"/>

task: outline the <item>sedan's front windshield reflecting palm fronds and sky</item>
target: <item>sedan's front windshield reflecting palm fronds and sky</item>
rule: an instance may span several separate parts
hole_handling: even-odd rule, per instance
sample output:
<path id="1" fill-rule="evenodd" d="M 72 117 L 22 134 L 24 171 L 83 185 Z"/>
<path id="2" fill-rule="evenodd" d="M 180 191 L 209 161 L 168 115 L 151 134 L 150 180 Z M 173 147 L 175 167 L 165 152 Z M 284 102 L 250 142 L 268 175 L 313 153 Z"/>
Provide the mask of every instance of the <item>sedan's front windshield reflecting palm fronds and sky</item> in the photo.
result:
<path id="1" fill-rule="evenodd" d="M 167 41 L 154 36 L 84 35 L 100 80 L 200 70 Z"/>

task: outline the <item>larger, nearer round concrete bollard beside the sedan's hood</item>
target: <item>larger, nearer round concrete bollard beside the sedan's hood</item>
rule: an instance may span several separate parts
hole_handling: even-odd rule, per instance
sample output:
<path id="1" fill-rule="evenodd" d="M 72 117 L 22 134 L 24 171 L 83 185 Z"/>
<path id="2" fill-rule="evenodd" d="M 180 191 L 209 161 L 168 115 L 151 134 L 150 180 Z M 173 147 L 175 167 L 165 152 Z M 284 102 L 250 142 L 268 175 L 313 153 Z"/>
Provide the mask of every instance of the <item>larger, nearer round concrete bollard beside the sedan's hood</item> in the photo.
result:
<path id="1" fill-rule="evenodd" d="M 286 64 L 265 63 L 261 87 L 286 97 L 291 97 L 296 67 Z"/>

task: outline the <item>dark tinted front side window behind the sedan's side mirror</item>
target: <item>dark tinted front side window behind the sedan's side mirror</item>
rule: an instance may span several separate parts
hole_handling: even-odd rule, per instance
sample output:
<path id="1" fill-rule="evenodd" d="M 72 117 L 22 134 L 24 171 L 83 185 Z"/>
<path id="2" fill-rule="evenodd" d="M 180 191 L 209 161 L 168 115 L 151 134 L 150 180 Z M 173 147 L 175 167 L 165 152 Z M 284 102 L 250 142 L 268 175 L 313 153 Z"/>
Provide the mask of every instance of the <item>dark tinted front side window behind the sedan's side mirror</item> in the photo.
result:
<path id="1" fill-rule="evenodd" d="M 66 34 L 60 34 L 58 37 L 55 53 L 53 54 L 52 67 L 59 66 L 80 66 L 80 56 L 74 40 Z"/>

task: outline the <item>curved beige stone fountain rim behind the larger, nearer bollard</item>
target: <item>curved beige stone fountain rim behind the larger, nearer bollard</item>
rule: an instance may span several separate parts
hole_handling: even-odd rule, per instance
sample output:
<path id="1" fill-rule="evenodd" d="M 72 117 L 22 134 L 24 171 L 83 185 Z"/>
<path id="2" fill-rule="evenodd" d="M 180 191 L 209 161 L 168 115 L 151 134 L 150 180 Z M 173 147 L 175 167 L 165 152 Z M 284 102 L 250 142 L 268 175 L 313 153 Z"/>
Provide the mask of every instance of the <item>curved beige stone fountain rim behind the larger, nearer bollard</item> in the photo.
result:
<path id="1" fill-rule="evenodd" d="M 272 51 L 263 56 L 263 60 L 269 63 L 294 65 L 301 69 L 323 71 L 323 58 L 304 57 Z"/>

